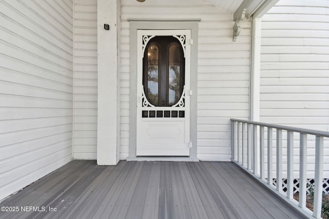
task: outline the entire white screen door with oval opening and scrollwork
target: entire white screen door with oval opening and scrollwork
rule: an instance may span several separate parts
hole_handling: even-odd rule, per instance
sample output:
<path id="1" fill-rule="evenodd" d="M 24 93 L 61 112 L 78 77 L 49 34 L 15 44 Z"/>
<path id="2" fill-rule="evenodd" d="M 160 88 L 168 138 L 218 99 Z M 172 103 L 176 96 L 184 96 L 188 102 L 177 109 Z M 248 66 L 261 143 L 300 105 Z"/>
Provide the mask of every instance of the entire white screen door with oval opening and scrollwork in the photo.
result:
<path id="1" fill-rule="evenodd" d="M 137 37 L 136 156 L 189 156 L 191 30 Z"/>

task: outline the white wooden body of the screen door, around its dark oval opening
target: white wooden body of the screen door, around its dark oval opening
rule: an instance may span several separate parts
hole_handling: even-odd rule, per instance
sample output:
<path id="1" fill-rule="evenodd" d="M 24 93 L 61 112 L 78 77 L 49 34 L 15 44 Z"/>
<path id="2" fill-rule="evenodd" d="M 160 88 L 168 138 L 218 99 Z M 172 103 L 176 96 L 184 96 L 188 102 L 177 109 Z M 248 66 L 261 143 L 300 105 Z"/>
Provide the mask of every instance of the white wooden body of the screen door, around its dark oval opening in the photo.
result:
<path id="1" fill-rule="evenodd" d="M 179 97 L 175 105 L 177 105 L 182 98 L 184 98 L 184 105 L 181 107 L 155 107 L 151 105 L 147 97 L 143 97 L 143 58 L 144 50 L 147 48 L 149 41 L 156 36 L 172 36 L 178 39 L 180 47 L 184 57 L 184 91 Z M 191 39 L 191 30 L 137 30 L 137 39 L 139 46 L 137 48 L 137 140 L 136 140 L 136 155 L 138 156 L 190 156 L 190 56 L 191 56 L 191 45 L 189 44 Z M 161 63 L 161 61 L 160 61 Z M 166 63 L 167 65 L 167 63 Z M 161 67 L 160 67 L 161 68 Z M 169 71 L 169 70 L 168 70 Z M 162 72 L 162 74 L 165 72 Z M 161 74 L 160 74 L 161 75 Z M 160 85 L 159 85 L 160 86 Z M 148 106 L 144 106 L 143 98 L 146 98 Z M 143 104 L 142 104 L 143 103 Z M 150 106 L 153 106 L 150 108 Z M 143 118 L 143 110 L 169 110 L 176 111 L 182 110 L 185 112 L 183 117 L 170 117 L 165 116 L 159 118 Z M 151 128 L 153 127 L 150 133 Z M 167 127 L 167 131 L 165 131 Z M 169 128 L 170 127 L 170 128 Z M 157 129 L 157 131 L 155 131 Z M 168 131 L 176 129 L 175 137 L 173 133 L 170 136 L 166 136 Z M 147 131 L 148 130 L 148 131 Z M 161 137 L 159 136 L 161 133 Z M 151 136 L 152 135 L 152 136 Z M 156 136 L 156 137 L 155 137 Z M 154 138 L 155 137 L 155 138 Z M 159 140 L 162 139 L 162 141 Z M 165 143 L 163 143 L 163 141 Z M 170 143 L 169 143 L 170 142 Z"/>

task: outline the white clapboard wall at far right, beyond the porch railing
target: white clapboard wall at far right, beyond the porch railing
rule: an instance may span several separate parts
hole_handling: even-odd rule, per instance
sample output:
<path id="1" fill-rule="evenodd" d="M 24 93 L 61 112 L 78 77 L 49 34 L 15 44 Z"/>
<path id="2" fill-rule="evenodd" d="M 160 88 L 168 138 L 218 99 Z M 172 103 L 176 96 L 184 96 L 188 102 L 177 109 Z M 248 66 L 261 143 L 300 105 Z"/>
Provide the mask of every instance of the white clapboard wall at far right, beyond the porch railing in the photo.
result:
<path id="1" fill-rule="evenodd" d="M 261 122 L 329 131 L 328 7 L 326 0 L 282 0 L 263 16 Z M 298 135 L 295 154 L 299 154 Z M 309 137 L 307 155 L 312 176 L 314 137 Z M 328 162 L 329 141 L 325 140 L 325 177 L 329 176 Z"/>

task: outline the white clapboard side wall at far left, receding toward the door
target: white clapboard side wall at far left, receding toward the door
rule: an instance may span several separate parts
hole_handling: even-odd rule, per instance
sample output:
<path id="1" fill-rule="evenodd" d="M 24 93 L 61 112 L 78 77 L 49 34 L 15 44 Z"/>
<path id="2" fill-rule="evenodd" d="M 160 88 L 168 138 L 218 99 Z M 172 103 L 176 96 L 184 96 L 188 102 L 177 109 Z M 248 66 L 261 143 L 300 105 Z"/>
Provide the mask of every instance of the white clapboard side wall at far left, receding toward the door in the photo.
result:
<path id="1" fill-rule="evenodd" d="M 72 159 L 72 12 L 0 1 L 0 200 Z"/>

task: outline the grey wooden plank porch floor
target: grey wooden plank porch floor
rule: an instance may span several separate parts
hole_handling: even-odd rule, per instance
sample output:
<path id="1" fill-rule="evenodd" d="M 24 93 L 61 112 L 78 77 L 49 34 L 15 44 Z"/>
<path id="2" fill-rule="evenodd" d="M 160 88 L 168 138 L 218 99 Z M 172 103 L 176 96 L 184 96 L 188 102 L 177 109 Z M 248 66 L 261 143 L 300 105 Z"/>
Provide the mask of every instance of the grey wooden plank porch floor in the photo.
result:
<path id="1" fill-rule="evenodd" d="M 0 218 L 301 218 L 231 162 L 72 161 L 0 206 L 19 207 Z"/>

